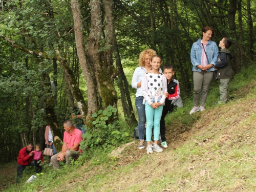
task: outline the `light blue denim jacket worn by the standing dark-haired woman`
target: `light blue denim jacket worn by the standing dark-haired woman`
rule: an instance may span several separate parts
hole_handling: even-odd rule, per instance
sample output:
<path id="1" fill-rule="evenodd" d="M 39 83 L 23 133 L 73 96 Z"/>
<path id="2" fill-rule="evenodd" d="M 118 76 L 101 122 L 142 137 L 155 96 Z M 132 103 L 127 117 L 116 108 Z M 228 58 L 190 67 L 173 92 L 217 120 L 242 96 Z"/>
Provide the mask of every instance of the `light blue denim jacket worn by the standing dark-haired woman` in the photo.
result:
<path id="1" fill-rule="evenodd" d="M 207 62 L 207 64 L 216 65 L 218 54 L 219 54 L 219 49 L 216 42 L 209 40 L 206 45 L 205 51 L 209 60 L 209 63 Z M 197 66 L 201 65 L 202 53 L 204 54 L 204 50 L 202 49 L 201 38 L 200 38 L 198 39 L 197 42 L 194 42 L 190 52 L 190 59 L 193 65 L 192 71 L 201 72 L 201 69 L 199 69 Z M 207 71 L 208 72 L 215 71 L 215 69 L 214 67 L 212 67 Z"/>

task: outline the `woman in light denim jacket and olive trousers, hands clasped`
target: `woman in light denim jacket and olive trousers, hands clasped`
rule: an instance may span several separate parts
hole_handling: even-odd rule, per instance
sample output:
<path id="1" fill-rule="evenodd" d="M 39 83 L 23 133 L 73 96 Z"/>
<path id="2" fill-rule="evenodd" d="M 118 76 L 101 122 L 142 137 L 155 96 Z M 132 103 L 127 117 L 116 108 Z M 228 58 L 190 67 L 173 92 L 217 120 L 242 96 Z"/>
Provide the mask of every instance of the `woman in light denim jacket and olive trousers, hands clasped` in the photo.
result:
<path id="1" fill-rule="evenodd" d="M 191 48 L 190 59 L 193 65 L 194 107 L 191 109 L 190 115 L 199 110 L 205 110 L 204 105 L 219 53 L 216 42 L 210 40 L 212 36 L 214 36 L 214 31 L 210 27 L 204 27 L 201 38 L 194 42 Z M 201 104 L 199 107 L 200 99 Z"/>

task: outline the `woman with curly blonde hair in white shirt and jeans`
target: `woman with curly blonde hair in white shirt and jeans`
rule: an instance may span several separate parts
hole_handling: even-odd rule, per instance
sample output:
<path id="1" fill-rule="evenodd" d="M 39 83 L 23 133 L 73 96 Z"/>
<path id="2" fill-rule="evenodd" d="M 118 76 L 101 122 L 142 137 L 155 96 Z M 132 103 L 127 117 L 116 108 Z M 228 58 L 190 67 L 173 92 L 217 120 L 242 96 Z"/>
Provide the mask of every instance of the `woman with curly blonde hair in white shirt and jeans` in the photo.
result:
<path id="1" fill-rule="evenodd" d="M 144 132 L 145 132 L 145 104 L 143 104 L 143 95 L 141 93 L 141 80 L 146 71 L 151 70 L 151 57 L 156 55 L 156 51 L 153 49 L 146 49 L 140 53 L 139 57 L 139 66 L 134 71 L 132 79 L 132 88 L 137 89 L 136 91 L 136 100 L 135 105 L 138 112 L 139 122 L 138 122 L 138 131 L 139 131 L 139 149 L 145 147 L 144 145 Z"/>

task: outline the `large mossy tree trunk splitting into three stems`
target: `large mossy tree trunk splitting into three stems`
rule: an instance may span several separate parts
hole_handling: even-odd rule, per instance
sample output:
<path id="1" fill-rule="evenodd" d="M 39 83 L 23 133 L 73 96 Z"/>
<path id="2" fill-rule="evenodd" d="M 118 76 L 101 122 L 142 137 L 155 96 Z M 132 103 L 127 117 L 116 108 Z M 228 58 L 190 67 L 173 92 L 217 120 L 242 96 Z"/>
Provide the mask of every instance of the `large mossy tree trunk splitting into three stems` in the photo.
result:
<path id="1" fill-rule="evenodd" d="M 103 51 L 100 51 L 100 40 L 102 36 L 101 8 L 100 1 L 91 1 L 91 31 L 87 39 L 87 48 L 83 42 L 82 19 L 78 0 L 71 1 L 71 8 L 74 18 L 76 48 L 83 71 L 87 80 L 88 90 L 88 116 L 99 110 L 98 95 L 104 103 L 117 107 L 117 94 L 113 84 L 115 75 L 113 72 L 113 2 L 104 1 L 106 14 L 106 37 Z M 103 56 L 103 59 L 101 59 Z M 90 103 L 89 103 L 90 102 Z"/>

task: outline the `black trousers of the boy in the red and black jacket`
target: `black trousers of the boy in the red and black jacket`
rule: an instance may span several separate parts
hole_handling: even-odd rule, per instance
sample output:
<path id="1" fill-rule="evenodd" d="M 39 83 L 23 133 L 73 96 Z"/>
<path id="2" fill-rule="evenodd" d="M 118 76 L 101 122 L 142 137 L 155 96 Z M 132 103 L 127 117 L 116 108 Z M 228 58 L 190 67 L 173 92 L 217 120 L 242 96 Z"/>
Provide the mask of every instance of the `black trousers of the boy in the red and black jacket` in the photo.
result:
<path id="1" fill-rule="evenodd" d="M 176 105 L 172 104 L 172 101 L 165 100 L 165 105 L 163 106 L 163 113 L 160 120 L 160 141 L 166 141 L 165 138 L 165 116 L 168 112 L 172 113 Z"/>

